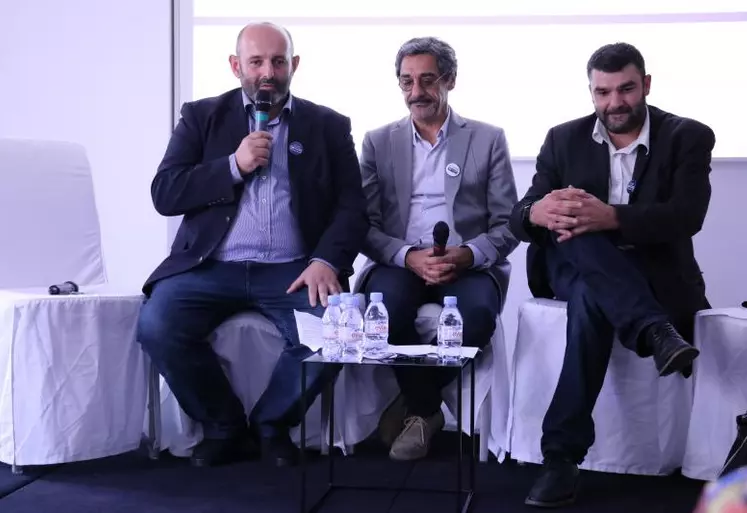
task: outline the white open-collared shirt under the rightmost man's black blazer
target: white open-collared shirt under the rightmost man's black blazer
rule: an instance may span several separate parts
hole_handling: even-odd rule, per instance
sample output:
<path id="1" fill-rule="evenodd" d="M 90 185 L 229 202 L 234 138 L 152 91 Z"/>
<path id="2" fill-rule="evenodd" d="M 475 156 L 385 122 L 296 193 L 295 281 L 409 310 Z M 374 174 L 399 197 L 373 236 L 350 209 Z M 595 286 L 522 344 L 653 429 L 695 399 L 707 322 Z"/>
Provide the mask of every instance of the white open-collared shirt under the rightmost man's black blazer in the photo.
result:
<path id="1" fill-rule="evenodd" d="M 649 140 L 651 134 L 651 120 L 648 113 L 648 107 L 646 108 L 646 120 L 643 122 L 643 128 L 641 133 L 638 134 L 638 138 L 627 145 L 625 148 L 617 149 L 612 144 L 607 129 L 604 128 L 599 119 L 594 123 L 594 131 L 591 134 L 599 144 L 607 143 L 607 147 L 610 151 L 610 178 L 609 178 L 609 201 L 610 205 L 625 205 L 630 199 L 630 192 L 628 191 L 628 185 L 633 180 L 633 170 L 635 169 L 635 161 L 638 158 L 638 147 L 643 146 L 646 148 L 646 153 L 649 151 Z"/>

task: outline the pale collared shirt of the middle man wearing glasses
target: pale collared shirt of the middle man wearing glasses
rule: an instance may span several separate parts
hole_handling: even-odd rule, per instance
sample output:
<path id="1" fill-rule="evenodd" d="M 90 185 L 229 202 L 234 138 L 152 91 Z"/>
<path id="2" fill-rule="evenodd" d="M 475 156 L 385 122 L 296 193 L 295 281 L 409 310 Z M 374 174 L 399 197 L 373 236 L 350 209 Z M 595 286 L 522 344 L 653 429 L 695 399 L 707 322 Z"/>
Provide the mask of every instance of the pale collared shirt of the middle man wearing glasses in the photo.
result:
<path id="1" fill-rule="evenodd" d="M 393 263 L 405 266 L 407 251 L 411 248 L 433 246 L 433 227 L 439 221 L 449 225 L 450 246 L 458 246 L 462 238 L 454 228 L 453 216 L 446 203 L 446 152 L 448 151 L 449 123 L 451 108 L 438 131 L 435 144 L 421 137 L 415 123 L 412 123 L 412 195 L 410 196 L 410 213 L 407 220 L 405 242 L 407 243 L 394 255 Z M 473 267 L 485 261 L 483 253 L 472 244 L 467 245 L 473 254 Z"/>

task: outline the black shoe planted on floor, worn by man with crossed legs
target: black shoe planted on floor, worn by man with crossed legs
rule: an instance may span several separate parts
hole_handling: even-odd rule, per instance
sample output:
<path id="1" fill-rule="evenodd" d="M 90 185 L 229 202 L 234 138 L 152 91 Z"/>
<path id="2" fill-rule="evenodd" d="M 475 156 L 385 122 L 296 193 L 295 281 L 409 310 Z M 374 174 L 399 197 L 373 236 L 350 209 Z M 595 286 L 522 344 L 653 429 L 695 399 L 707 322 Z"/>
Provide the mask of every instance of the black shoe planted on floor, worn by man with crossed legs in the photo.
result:
<path id="1" fill-rule="evenodd" d="M 540 477 L 524 500 L 527 506 L 560 508 L 573 504 L 578 485 L 578 466 L 565 460 L 545 460 Z"/>

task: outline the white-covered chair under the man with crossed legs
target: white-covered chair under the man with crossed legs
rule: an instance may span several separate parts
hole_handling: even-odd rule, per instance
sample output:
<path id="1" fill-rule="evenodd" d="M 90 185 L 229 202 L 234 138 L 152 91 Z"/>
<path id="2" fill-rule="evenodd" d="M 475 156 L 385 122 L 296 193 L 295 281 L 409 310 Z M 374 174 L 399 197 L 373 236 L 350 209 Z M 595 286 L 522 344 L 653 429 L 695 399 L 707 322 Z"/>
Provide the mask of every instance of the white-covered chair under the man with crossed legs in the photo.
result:
<path id="1" fill-rule="evenodd" d="M 509 450 L 541 463 L 542 420 L 565 353 L 566 304 L 530 299 L 519 308 L 512 376 Z M 663 475 L 682 465 L 692 380 L 660 378 L 651 358 L 617 341 L 593 417 L 596 442 L 581 465 L 603 472 Z"/>

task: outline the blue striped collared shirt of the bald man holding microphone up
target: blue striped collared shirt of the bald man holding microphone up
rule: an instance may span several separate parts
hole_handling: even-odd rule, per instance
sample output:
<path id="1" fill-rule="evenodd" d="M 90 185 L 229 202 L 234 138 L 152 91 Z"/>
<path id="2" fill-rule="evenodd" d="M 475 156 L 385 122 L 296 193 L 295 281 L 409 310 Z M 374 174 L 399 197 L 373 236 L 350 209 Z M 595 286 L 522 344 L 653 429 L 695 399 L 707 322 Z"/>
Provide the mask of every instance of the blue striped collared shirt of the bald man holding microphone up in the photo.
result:
<path id="1" fill-rule="evenodd" d="M 254 129 L 254 104 L 242 91 L 249 133 Z M 288 174 L 288 123 L 293 97 L 289 94 L 283 110 L 270 121 L 272 148 L 266 167 L 242 176 L 236 155 L 229 156 L 235 183 L 244 183 L 233 224 L 213 254 L 223 261 L 292 262 L 304 258 L 298 222 L 291 211 Z"/>

